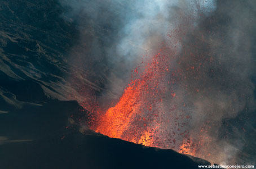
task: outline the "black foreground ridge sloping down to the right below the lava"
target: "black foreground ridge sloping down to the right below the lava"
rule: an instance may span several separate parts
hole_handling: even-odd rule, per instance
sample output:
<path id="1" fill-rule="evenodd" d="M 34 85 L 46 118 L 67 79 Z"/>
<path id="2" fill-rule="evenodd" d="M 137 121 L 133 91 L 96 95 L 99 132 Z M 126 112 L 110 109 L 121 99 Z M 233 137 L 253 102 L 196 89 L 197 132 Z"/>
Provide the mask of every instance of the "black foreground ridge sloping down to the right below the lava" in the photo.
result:
<path id="1" fill-rule="evenodd" d="M 77 102 L 52 101 L 0 114 L 1 168 L 198 168 L 174 150 L 148 148 L 86 131 Z"/>

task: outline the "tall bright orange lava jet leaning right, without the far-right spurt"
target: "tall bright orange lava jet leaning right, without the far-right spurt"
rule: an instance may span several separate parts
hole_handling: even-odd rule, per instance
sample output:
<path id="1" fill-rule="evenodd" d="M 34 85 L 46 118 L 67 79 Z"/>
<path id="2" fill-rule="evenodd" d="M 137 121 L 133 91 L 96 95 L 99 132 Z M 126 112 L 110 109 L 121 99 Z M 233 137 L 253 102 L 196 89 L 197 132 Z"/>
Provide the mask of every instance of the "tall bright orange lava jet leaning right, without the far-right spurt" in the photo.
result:
<path id="1" fill-rule="evenodd" d="M 111 138 L 121 138 L 147 146 L 153 146 L 153 132 L 150 125 L 156 104 L 162 101 L 164 93 L 160 81 L 168 71 L 168 65 L 160 65 L 165 56 L 160 53 L 145 66 L 144 72 L 131 81 L 116 106 L 100 117 L 96 132 Z M 135 71 L 137 73 L 138 70 Z"/>

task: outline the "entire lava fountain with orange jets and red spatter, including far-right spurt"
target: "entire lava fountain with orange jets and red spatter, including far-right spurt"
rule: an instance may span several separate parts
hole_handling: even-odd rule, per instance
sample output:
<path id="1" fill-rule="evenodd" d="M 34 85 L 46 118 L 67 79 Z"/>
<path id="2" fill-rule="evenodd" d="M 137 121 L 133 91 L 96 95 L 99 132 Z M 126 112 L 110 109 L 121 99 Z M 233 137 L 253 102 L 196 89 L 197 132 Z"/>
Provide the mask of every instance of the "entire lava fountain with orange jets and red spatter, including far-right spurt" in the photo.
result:
<path id="1" fill-rule="evenodd" d="M 206 135 L 206 127 L 193 138 L 187 126 L 191 111 L 185 102 L 175 103 L 180 99 L 175 85 L 183 77 L 174 63 L 176 53 L 176 47 L 164 47 L 152 57 L 143 56 L 119 101 L 106 112 L 98 111 L 91 129 L 111 138 L 204 157 L 206 152 L 198 152 L 209 143 L 207 136 L 201 136 Z"/>

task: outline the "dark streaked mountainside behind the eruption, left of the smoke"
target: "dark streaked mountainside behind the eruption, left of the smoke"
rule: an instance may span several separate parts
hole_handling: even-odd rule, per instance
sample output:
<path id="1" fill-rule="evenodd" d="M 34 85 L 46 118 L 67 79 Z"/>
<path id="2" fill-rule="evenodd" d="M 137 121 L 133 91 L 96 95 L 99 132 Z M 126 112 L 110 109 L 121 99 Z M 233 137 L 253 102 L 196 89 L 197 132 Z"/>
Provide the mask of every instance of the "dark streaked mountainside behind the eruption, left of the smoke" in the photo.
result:
<path id="1" fill-rule="evenodd" d="M 48 102 L 76 94 L 66 78 L 76 74 L 66 56 L 78 31 L 60 16 L 64 10 L 57 0 L 1 1 L 0 86 L 17 100 Z"/>

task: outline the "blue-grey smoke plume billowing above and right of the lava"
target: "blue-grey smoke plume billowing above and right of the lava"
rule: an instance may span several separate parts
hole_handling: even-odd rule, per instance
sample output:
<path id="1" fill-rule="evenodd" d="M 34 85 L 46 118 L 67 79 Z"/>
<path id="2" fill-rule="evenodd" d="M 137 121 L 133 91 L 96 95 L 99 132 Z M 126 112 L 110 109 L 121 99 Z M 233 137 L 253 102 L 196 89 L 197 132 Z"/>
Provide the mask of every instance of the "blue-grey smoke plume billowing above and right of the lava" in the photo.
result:
<path id="1" fill-rule="evenodd" d="M 255 144 L 245 138 L 245 131 L 255 132 L 254 2 L 60 3 L 67 9 L 62 17 L 80 31 L 69 62 L 84 72 L 86 88 L 83 80 L 78 83 L 85 88 L 81 94 L 95 90 L 99 106 L 109 108 L 130 83 L 131 71 L 145 68 L 143 56 L 150 58 L 162 49 L 170 71 L 160 83 L 167 92 L 157 106 L 156 122 L 148 124 L 152 129 L 161 126 L 153 131 L 159 138 L 154 145 L 179 150 L 186 138 L 185 147 L 197 147 L 196 155 L 211 162 L 253 162 L 255 154 L 246 147 Z M 175 133 L 171 141 L 170 133 Z"/>

